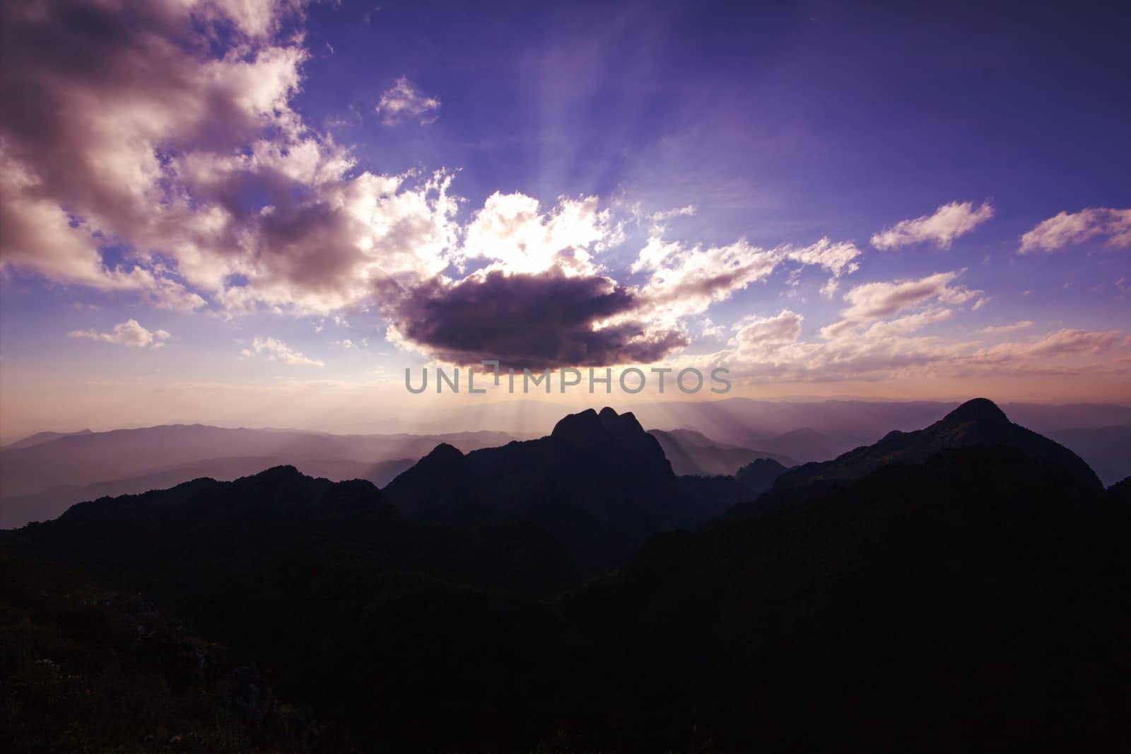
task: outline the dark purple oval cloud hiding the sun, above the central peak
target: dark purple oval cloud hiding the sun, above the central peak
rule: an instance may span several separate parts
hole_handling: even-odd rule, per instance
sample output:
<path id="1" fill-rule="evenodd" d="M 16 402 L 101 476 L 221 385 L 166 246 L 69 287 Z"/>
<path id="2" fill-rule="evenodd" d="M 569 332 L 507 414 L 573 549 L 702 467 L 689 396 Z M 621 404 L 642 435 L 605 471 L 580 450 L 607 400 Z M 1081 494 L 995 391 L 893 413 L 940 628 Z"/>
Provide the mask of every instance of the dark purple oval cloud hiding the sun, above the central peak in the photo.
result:
<path id="1" fill-rule="evenodd" d="M 638 323 L 594 328 L 638 306 L 631 291 L 605 277 L 494 272 L 457 285 L 417 288 L 391 318 L 407 340 L 463 365 L 483 359 L 532 369 L 640 363 L 688 344 L 682 333 L 648 335 Z"/>

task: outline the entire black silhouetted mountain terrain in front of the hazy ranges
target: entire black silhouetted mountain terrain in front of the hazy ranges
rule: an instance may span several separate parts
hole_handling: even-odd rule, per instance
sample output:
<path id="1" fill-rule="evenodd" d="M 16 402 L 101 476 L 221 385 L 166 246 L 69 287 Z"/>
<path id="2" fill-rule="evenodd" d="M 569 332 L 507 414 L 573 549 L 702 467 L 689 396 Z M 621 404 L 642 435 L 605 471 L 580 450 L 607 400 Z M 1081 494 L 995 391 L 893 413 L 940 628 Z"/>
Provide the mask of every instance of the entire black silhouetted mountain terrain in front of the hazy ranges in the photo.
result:
<path id="1" fill-rule="evenodd" d="M 1131 481 L 1104 489 L 988 401 L 714 478 L 585 412 L 441 446 L 385 490 L 280 466 L 2 532 L 0 736 L 1126 752 L 1129 545 Z"/>

